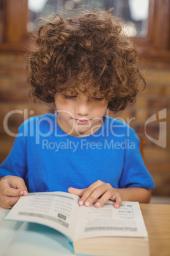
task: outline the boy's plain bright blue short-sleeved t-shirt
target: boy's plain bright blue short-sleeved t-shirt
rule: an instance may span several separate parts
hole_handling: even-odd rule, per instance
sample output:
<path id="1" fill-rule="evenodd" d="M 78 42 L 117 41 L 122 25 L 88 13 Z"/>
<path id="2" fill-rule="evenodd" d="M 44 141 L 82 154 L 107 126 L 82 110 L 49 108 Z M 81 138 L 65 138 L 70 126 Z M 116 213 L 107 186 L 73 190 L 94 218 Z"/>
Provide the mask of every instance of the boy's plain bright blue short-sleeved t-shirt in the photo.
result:
<path id="1" fill-rule="evenodd" d="M 154 188 L 140 154 L 140 140 L 124 122 L 105 117 L 94 134 L 74 137 L 56 115 L 32 117 L 18 129 L 13 148 L 0 166 L 0 177 L 20 176 L 29 192 L 86 188 L 101 180 L 114 188 Z"/>

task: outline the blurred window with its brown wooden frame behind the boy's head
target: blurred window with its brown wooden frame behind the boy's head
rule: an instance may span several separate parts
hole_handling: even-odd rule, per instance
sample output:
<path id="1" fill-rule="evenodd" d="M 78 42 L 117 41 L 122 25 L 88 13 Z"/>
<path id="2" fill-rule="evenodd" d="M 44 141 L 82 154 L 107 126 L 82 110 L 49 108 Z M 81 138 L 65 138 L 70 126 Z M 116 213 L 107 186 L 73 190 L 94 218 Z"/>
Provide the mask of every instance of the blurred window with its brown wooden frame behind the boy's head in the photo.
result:
<path id="1" fill-rule="evenodd" d="M 121 13 L 144 57 L 170 60 L 169 0 L 36 0 L 34 5 L 32 1 L 0 0 L 0 50 L 20 51 L 24 48 L 32 23 L 39 14 L 77 8 L 80 1 L 82 4 L 98 1 L 107 9 L 114 6 L 114 15 Z"/>

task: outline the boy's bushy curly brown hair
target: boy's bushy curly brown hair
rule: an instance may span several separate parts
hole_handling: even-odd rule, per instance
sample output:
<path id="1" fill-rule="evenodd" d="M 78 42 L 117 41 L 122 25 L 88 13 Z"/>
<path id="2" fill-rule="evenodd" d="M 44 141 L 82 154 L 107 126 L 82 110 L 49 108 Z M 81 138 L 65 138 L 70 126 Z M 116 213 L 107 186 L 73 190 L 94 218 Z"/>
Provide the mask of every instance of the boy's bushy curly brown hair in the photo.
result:
<path id="1" fill-rule="evenodd" d="M 112 111 L 136 102 L 140 53 L 109 11 L 56 14 L 32 36 L 28 59 L 30 96 L 54 103 L 55 95 L 102 96 Z"/>

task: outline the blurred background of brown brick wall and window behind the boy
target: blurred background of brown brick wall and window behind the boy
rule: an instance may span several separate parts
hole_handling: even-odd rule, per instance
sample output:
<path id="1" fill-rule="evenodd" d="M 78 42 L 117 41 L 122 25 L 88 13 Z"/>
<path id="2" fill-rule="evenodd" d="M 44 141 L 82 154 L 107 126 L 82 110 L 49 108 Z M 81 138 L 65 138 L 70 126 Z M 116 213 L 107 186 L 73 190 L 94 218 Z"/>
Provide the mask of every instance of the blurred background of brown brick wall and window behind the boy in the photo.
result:
<path id="1" fill-rule="evenodd" d="M 170 202 L 170 1 L 169 0 L 0 0 L 0 163 L 11 150 L 24 118 L 53 113 L 51 106 L 33 103 L 27 86 L 25 48 L 34 20 L 80 4 L 114 7 L 125 20 L 124 31 L 140 48 L 147 87 L 136 104 L 107 113 L 130 122 L 141 139 L 145 166 L 155 181 L 152 203 Z M 17 113 L 10 111 L 17 110 Z M 10 113 L 10 115 L 8 115 Z M 150 121 L 147 122 L 148 118 Z M 160 119 L 160 120 L 159 120 Z M 5 120 L 5 121 L 4 121 Z M 8 124 L 8 134 L 4 125 Z M 161 125 L 162 124 L 162 125 Z"/>

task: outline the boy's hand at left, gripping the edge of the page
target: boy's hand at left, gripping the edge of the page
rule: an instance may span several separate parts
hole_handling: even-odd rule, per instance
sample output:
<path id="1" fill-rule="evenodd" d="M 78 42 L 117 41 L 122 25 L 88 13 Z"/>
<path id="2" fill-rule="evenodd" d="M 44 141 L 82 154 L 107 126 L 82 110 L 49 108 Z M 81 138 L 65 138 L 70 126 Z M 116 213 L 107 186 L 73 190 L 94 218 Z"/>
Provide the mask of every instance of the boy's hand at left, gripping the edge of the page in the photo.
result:
<path id="1" fill-rule="evenodd" d="M 22 178 L 8 175 L 0 179 L 1 207 L 11 209 L 20 196 L 29 196 L 27 187 Z"/>

